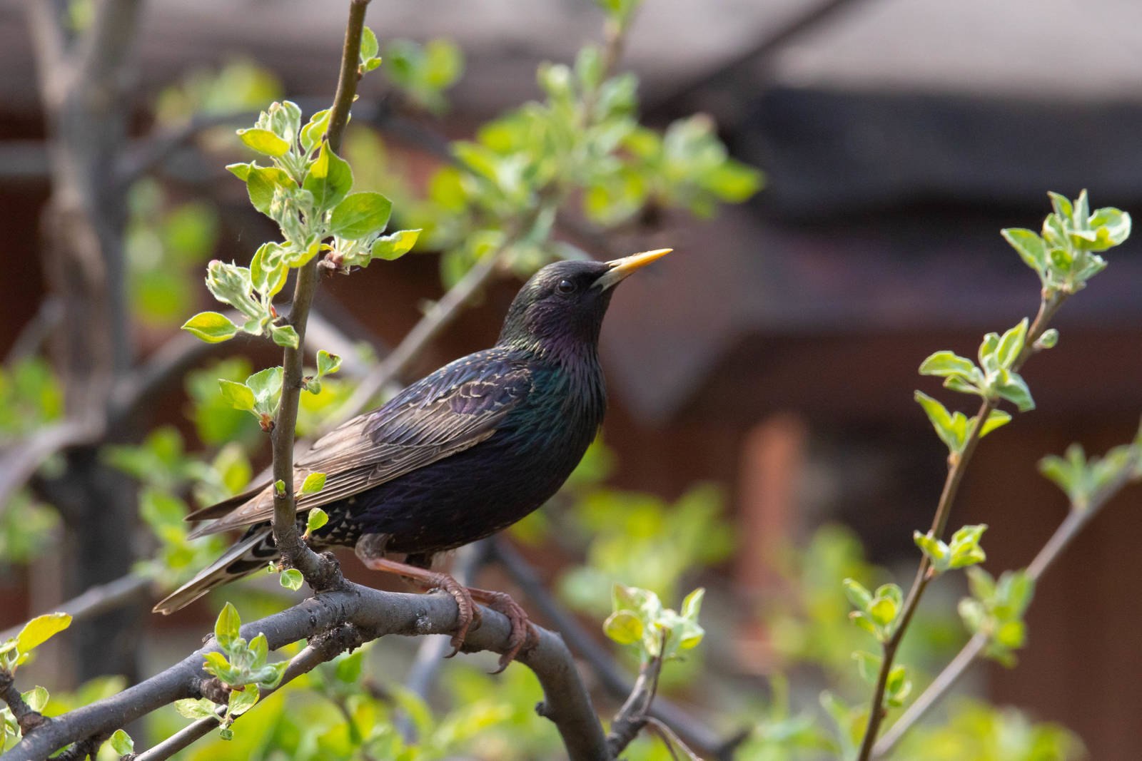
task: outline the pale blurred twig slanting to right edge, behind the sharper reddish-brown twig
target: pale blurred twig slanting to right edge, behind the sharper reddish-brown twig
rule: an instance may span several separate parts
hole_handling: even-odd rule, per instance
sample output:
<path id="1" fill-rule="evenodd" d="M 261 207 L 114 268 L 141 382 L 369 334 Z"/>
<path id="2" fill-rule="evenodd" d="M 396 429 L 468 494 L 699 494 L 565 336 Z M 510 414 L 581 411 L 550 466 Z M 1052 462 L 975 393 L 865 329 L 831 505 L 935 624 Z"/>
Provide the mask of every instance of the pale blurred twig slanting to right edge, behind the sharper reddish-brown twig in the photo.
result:
<path id="1" fill-rule="evenodd" d="M 1113 499 L 1131 481 L 1137 480 L 1136 468 L 1140 459 L 1142 458 L 1140 458 L 1139 450 L 1135 446 L 1134 456 L 1124 465 L 1118 478 L 1093 495 L 1086 508 L 1076 505 L 1073 502 L 1070 504 L 1067 518 L 1063 519 L 1059 528 L 1055 529 L 1051 539 L 1047 540 L 1046 544 L 1036 553 L 1035 559 L 1027 567 L 1027 575 L 1032 582 L 1039 581 L 1047 568 L 1059 559 L 1063 550 L 1086 528 L 1086 525 L 1102 510 L 1107 502 Z M 888 754 L 895 747 L 896 743 L 900 742 L 900 738 L 904 736 L 904 732 L 923 719 L 933 705 L 943 699 L 967 669 L 976 662 L 989 641 L 990 638 L 987 632 L 982 631 L 974 634 L 967 641 L 959 653 L 956 654 L 956 657 L 928 685 L 927 689 L 900 714 L 900 719 L 876 743 L 872 748 L 874 759 Z"/>

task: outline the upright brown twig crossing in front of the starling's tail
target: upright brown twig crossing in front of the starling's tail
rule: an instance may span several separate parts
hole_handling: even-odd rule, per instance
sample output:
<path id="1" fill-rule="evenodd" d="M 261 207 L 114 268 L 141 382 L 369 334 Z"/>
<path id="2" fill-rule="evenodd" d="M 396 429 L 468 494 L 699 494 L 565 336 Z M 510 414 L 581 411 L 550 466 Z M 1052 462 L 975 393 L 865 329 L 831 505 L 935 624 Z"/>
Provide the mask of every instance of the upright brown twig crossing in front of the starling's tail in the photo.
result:
<path id="1" fill-rule="evenodd" d="M 348 122 L 349 107 L 356 95 L 357 59 L 361 55 L 361 33 L 369 0 L 351 0 L 349 17 L 345 26 L 341 49 L 341 68 L 337 80 L 337 95 L 329 114 L 325 139 L 335 153 L 340 149 L 341 136 Z M 305 327 L 317 290 L 317 259 L 298 269 L 290 308 L 290 324 L 297 331 L 297 348 L 286 347 L 282 362 L 282 392 L 278 420 L 272 432 L 274 480 L 282 489 L 274 489 L 274 542 L 284 562 L 301 572 L 314 590 L 331 589 L 340 583 L 340 569 L 332 561 L 322 559 L 311 550 L 297 531 L 297 503 L 293 499 L 293 437 L 297 428 L 297 407 L 301 396 L 305 351 Z"/>

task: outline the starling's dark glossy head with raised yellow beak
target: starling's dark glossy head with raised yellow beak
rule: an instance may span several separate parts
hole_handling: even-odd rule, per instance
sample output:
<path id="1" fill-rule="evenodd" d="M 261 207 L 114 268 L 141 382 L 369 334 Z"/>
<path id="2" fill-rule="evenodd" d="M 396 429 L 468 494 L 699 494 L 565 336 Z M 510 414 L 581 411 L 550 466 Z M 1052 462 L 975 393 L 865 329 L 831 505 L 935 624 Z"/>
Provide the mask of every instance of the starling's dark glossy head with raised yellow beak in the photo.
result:
<path id="1" fill-rule="evenodd" d="M 500 345 L 541 350 L 595 346 L 614 286 L 670 249 L 612 261 L 556 261 L 531 276 L 507 311 Z"/>

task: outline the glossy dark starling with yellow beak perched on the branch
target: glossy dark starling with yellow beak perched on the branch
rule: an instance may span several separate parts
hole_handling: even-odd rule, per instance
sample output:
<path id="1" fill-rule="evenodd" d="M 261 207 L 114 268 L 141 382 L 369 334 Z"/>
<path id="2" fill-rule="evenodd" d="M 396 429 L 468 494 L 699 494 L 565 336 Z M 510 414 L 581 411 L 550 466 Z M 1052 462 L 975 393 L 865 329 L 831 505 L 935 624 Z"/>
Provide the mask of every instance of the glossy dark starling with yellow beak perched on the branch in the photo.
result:
<path id="1" fill-rule="evenodd" d="M 317 439 L 295 468 L 295 491 L 307 475 L 325 473 L 320 492 L 297 497 L 299 523 L 312 508 L 329 515 L 311 547 L 354 547 L 370 568 L 449 591 L 460 608 L 456 648 L 472 623 L 473 599 L 504 612 L 513 623 L 506 665 L 526 639 L 525 614 L 502 592 L 465 590 L 433 573 L 433 557 L 510 526 L 571 475 L 606 407 L 598 332 L 612 289 L 669 251 L 547 265 L 512 301 L 496 346 L 444 365 Z M 187 516 L 216 519 L 191 537 L 247 531 L 154 610 L 174 613 L 275 560 L 273 511 L 272 485 L 259 484 Z"/>

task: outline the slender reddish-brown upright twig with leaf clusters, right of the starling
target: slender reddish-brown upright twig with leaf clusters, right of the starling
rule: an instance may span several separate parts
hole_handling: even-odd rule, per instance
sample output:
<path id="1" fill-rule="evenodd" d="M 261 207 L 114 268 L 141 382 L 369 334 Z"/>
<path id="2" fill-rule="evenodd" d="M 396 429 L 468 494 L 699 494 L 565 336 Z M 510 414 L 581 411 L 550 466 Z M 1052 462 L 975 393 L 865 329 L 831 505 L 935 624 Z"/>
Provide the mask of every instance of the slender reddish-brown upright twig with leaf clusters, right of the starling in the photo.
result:
<path id="1" fill-rule="evenodd" d="M 1035 342 L 1040 335 L 1043 335 L 1043 332 L 1047 329 L 1047 324 L 1054 317 L 1055 313 L 1059 311 L 1059 308 L 1067 300 L 1067 293 L 1060 291 L 1052 291 L 1051 293 L 1044 292 L 1035 321 L 1031 323 L 1030 327 L 1028 327 L 1027 339 L 1023 342 L 1023 349 L 1020 351 L 1020 355 L 1015 358 L 1015 361 L 1012 362 L 1011 369 L 1013 372 L 1018 372 L 1023 366 L 1023 363 L 1027 362 L 1032 354 L 1035 354 Z M 976 444 L 980 442 L 980 434 L 983 430 L 983 423 L 987 421 L 988 415 L 992 410 L 995 410 L 997 404 L 998 399 L 983 399 L 983 403 L 980 405 L 980 411 L 975 415 L 975 422 L 972 424 L 972 428 L 967 434 L 967 440 L 964 444 L 963 451 L 958 455 L 952 454 L 948 458 L 948 477 L 943 483 L 943 491 L 940 493 L 940 501 L 936 504 L 935 516 L 932 519 L 931 532 L 932 535 L 938 539 L 943 535 L 943 532 L 948 526 L 948 518 L 951 515 L 951 505 L 956 501 L 956 493 L 958 492 L 959 484 L 964 478 L 967 463 L 972 459 L 972 454 L 975 452 Z M 892 632 L 892 637 L 890 637 L 888 641 L 884 643 L 880 669 L 877 673 L 876 687 L 872 691 L 871 709 L 868 714 L 868 723 L 864 728 L 864 738 L 861 740 L 860 753 L 856 756 L 858 761 L 868 761 L 871 758 L 872 745 L 876 743 L 880 723 L 884 721 L 886 713 L 884 707 L 884 694 L 888 682 L 888 673 L 892 670 L 893 661 L 896 656 L 900 642 L 903 640 L 904 631 L 908 629 L 908 624 L 911 622 L 912 615 L 919 606 L 920 598 L 924 596 L 924 590 L 927 589 L 928 583 L 933 578 L 931 570 L 932 561 L 925 554 L 920 558 L 919 567 L 916 570 L 916 578 L 912 581 L 912 585 L 908 590 L 908 596 L 904 598 L 903 608 L 896 626 Z"/>

